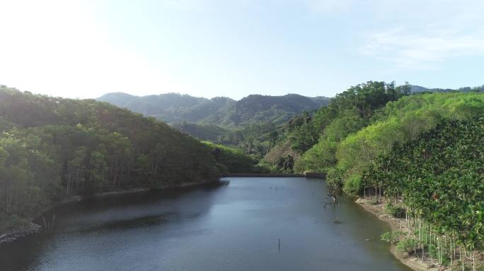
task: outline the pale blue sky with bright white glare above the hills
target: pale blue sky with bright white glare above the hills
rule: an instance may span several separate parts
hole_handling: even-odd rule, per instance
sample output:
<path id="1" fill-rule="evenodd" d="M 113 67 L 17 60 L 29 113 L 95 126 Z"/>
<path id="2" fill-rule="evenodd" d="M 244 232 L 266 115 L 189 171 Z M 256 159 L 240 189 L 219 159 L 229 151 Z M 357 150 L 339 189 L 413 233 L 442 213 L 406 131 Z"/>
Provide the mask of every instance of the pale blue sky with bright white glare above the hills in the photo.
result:
<path id="1" fill-rule="evenodd" d="M 483 85 L 483 14 L 480 0 L 0 0 L 0 85 L 234 99 Z"/>

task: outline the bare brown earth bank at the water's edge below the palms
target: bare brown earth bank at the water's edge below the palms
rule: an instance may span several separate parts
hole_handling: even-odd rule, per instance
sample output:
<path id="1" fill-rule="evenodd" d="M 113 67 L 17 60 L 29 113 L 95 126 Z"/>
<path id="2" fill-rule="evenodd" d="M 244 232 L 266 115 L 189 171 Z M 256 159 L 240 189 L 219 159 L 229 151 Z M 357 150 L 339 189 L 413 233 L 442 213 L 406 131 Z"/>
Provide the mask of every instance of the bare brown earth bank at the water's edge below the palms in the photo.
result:
<path id="1" fill-rule="evenodd" d="M 384 203 L 374 204 L 374 201 L 370 198 L 358 198 L 355 203 L 363 207 L 364 210 L 378 217 L 380 220 L 390 225 L 391 231 L 408 231 L 405 226 L 405 219 L 396 218 L 388 215 L 384 210 Z M 391 253 L 400 260 L 404 265 L 407 265 L 415 271 L 446 271 L 450 270 L 449 267 L 438 266 L 432 260 L 426 258 L 413 257 L 408 253 L 398 251 L 394 244 L 391 244 Z"/>

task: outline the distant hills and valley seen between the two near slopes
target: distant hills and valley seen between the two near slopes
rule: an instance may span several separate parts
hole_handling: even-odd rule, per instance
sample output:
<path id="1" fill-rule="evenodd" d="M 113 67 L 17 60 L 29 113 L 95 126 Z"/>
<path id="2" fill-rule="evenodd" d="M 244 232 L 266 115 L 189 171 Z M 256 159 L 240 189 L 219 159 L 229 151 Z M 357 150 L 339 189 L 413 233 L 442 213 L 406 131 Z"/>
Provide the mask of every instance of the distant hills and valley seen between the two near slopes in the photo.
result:
<path id="1" fill-rule="evenodd" d="M 311 120 L 309 112 L 328 104 L 330 99 L 290 94 L 249 95 L 234 101 L 225 97 L 207 100 L 174 93 L 146 97 L 110 93 L 98 100 L 168 121 L 183 133 L 235 147 L 261 160 L 282 138 L 286 138 L 287 131 L 308 123 Z M 289 124 L 282 126 L 286 121 Z M 284 157 L 287 155 L 296 157 L 289 153 Z M 275 171 L 282 170 L 277 169 L 275 159 L 265 160 L 263 164 Z M 292 171 L 292 167 L 289 170 Z"/>

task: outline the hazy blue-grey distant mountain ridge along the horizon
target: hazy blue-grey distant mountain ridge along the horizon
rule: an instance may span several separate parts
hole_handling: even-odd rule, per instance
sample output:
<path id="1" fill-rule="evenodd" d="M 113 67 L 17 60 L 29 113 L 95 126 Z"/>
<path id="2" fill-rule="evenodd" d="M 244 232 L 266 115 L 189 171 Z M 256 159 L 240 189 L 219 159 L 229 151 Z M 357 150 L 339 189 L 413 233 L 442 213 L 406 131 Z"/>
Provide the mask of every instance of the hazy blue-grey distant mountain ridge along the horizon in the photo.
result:
<path id="1" fill-rule="evenodd" d="M 249 95 L 235 101 L 227 97 L 205 99 L 175 93 L 132 96 L 108 93 L 97 100 L 125 107 L 145 116 L 154 116 L 167 123 L 188 121 L 233 128 L 245 124 L 272 122 L 282 124 L 303 111 L 312 111 L 328 104 L 326 97 Z"/>

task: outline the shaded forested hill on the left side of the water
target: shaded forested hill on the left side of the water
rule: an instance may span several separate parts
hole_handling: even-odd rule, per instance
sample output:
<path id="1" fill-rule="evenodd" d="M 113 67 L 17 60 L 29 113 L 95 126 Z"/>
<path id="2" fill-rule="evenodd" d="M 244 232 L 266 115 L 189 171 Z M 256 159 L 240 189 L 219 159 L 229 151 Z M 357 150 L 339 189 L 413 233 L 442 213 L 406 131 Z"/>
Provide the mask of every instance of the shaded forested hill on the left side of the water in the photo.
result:
<path id="1" fill-rule="evenodd" d="M 0 232 L 71 195 L 218 179 L 212 147 L 95 100 L 0 87 Z"/>

